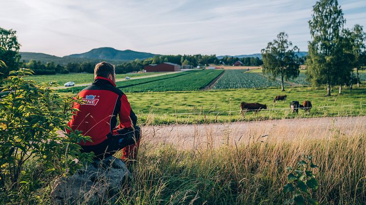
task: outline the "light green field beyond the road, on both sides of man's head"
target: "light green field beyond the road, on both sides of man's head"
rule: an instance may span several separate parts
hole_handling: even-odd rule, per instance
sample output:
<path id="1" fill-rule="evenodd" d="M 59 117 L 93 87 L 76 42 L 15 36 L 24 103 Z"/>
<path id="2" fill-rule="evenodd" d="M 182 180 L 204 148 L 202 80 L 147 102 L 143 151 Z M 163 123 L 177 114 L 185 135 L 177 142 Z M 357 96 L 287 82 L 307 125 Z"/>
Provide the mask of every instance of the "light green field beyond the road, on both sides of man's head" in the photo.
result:
<path id="1" fill-rule="evenodd" d="M 159 72 L 160 73 L 160 72 Z M 163 73 L 163 72 L 161 72 Z M 146 73 L 126 73 L 126 74 L 116 74 L 116 79 L 124 79 L 126 76 L 129 77 L 141 77 L 157 74 L 155 72 Z M 56 81 L 60 86 L 66 82 L 73 81 L 75 84 L 81 83 L 91 83 L 94 80 L 93 73 L 68 73 L 68 74 L 55 74 L 55 75 L 33 75 L 27 76 L 26 80 L 34 80 L 37 83 Z"/>

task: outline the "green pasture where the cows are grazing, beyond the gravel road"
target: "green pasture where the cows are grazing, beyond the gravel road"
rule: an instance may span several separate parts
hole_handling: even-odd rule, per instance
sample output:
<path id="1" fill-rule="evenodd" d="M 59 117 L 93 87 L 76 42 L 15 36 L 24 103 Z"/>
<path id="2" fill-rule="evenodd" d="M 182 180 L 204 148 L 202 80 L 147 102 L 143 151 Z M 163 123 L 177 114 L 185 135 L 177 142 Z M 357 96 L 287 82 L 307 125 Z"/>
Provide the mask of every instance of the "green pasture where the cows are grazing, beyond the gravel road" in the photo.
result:
<path id="1" fill-rule="evenodd" d="M 331 97 L 325 97 L 325 89 L 310 87 L 289 87 L 285 92 L 279 88 L 235 89 L 211 91 L 175 91 L 127 93 L 131 106 L 140 123 L 206 123 L 236 120 L 263 120 L 293 117 L 326 117 L 366 115 L 366 86 L 343 89 L 338 94 L 333 89 Z M 273 103 L 276 95 L 287 94 L 287 102 Z M 313 109 L 310 114 L 300 110 L 294 115 L 289 110 L 292 100 L 310 100 Z M 266 104 L 268 110 L 240 115 L 240 102 Z M 285 109 L 285 110 L 271 110 Z M 219 113 L 217 113 L 219 112 Z M 193 113 L 193 114 L 192 114 Z"/>

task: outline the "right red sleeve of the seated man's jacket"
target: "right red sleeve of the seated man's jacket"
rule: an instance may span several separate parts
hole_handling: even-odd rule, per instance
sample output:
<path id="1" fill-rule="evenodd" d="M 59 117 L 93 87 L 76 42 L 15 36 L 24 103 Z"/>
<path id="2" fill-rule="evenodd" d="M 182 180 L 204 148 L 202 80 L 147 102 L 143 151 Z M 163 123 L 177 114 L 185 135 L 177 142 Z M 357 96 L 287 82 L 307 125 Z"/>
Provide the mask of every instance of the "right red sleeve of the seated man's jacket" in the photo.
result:
<path id="1" fill-rule="evenodd" d="M 120 100 L 121 108 L 118 113 L 120 123 L 118 125 L 118 128 L 132 128 L 132 126 L 136 126 L 137 117 L 131 109 L 131 105 L 130 102 L 127 100 L 127 96 L 123 94 Z"/>

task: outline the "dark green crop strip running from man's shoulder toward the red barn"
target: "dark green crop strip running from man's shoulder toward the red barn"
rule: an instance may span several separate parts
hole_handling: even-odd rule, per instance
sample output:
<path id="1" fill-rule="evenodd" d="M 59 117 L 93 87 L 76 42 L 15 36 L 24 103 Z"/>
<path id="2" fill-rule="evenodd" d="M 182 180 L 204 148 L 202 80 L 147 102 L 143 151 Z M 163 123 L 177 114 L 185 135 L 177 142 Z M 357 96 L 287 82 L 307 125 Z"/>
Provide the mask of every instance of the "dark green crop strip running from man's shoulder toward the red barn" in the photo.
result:
<path id="1" fill-rule="evenodd" d="M 209 85 L 222 72 L 223 70 L 202 70 L 175 78 L 131 86 L 122 90 L 124 92 L 197 91 Z"/>

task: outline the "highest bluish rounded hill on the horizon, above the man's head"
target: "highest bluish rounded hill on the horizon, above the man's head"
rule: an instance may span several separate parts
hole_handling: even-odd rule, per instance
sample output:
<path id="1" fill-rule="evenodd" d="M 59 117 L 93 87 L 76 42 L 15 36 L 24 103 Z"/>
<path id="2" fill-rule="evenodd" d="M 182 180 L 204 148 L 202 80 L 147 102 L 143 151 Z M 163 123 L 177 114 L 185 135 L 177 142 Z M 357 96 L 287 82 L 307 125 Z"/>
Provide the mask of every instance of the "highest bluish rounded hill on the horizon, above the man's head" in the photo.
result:
<path id="1" fill-rule="evenodd" d="M 64 58 L 86 58 L 86 59 L 106 59 L 117 61 L 132 61 L 154 57 L 156 54 L 137 52 L 133 50 L 117 50 L 111 47 L 94 48 L 86 53 L 72 54 Z"/>

